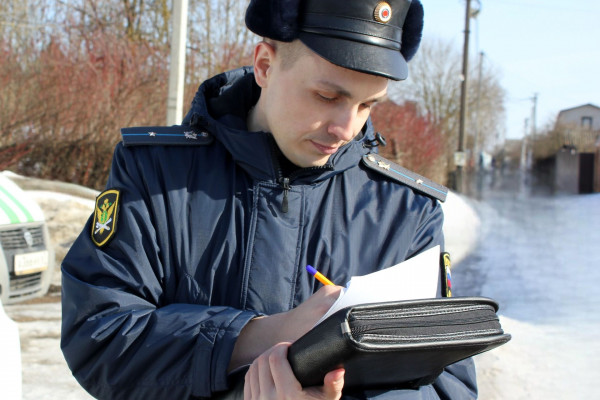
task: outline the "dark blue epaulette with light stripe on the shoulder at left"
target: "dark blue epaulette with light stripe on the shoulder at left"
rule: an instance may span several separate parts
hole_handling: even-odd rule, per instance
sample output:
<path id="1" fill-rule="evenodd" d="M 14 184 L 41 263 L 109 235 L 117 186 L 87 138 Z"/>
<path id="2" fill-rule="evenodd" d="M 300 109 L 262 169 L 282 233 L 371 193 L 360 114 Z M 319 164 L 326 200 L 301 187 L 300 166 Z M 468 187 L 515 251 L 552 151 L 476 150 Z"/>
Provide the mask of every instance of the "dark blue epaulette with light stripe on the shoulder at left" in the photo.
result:
<path id="1" fill-rule="evenodd" d="M 213 136 L 189 125 L 139 126 L 121 129 L 125 146 L 143 145 L 192 145 L 206 146 L 213 142 Z"/>

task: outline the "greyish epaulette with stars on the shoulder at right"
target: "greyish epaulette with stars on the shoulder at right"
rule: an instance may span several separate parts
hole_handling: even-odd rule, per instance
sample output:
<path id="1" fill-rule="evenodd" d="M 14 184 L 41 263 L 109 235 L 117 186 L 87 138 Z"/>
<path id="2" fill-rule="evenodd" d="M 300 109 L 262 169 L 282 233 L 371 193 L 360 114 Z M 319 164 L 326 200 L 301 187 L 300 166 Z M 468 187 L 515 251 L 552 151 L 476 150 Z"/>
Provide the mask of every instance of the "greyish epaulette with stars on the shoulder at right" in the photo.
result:
<path id="1" fill-rule="evenodd" d="M 448 195 L 448 189 L 446 187 L 415 172 L 409 171 L 408 169 L 381 157 L 379 154 L 370 153 L 363 156 L 363 163 L 367 167 L 410 186 L 421 193 L 434 197 L 441 202 L 446 200 L 446 196 Z"/>

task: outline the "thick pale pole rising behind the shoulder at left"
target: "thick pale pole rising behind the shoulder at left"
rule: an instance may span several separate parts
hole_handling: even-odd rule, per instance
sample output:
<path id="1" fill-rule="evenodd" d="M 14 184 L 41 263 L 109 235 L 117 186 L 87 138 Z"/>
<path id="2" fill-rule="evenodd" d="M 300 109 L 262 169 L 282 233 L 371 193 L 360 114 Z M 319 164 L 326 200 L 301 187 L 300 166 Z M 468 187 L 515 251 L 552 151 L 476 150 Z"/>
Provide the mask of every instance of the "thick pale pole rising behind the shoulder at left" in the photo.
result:
<path id="1" fill-rule="evenodd" d="M 173 37 L 171 38 L 171 65 L 167 94 L 167 126 L 181 122 L 185 80 L 185 47 L 187 42 L 188 0 L 173 1 Z"/>

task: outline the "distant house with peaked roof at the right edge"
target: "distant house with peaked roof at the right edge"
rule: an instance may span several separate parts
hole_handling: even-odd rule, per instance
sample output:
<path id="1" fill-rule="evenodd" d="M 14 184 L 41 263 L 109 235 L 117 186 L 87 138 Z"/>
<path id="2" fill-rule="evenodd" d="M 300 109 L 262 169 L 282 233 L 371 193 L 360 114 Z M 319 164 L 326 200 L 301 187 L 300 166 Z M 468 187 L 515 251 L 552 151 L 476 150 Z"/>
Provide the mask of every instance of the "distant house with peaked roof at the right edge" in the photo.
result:
<path id="1" fill-rule="evenodd" d="M 600 107 L 584 104 L 562 110 L 554 130 L 561 132 L 564 145 L 574 146 L 580 152 L 594 152 L 600 136 Z"/>

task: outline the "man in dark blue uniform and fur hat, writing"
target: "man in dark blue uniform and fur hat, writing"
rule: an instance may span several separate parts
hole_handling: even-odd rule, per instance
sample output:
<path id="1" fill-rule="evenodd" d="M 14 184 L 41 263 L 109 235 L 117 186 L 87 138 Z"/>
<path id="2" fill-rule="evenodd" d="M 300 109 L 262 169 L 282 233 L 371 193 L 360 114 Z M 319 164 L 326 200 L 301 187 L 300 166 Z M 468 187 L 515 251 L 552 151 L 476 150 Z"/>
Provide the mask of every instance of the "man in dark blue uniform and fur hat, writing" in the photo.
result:
<path id="1" fill-rule="evenodd" d="M 253 0 L 253 66 L 204 82 L 181 126 L 123 129 L 107 190 L 63 263 L 62 349 L 107 399 L 468 399 L 471 360 L 411 390 L 302 388 L 286 352 L 332 281 L 443 245 L 443 187 L 373 152 L 369 113 L 407 78 L 418 0 Z"/>

